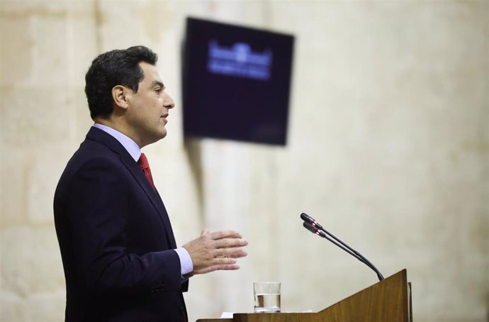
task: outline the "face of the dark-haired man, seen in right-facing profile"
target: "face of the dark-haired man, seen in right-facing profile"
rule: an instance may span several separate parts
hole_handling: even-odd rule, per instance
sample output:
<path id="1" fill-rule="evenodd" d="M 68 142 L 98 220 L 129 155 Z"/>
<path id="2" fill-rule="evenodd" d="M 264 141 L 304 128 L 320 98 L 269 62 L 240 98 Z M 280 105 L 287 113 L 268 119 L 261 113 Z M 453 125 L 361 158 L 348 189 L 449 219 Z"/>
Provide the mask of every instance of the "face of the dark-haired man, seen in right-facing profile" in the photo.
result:
<path id="1" fill-rule="evenodd" d="M 173 99 L 164 91 L 164 84 L 154 65 L 140 62 L 145 77 L 139 83 L 137 93 L 128 96 L 126 119 L 131 138 L 142 148 L 167 135 L 167 116 L 175 106 Z"/>

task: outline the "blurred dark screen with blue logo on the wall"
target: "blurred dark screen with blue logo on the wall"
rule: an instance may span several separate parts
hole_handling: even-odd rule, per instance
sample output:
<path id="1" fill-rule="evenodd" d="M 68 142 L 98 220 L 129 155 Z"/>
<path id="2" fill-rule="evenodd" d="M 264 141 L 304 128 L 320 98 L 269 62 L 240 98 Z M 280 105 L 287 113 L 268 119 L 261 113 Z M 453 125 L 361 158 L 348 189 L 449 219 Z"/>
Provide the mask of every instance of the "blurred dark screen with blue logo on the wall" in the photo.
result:
<path id="1" fill-rule="evenodd" d="M 184 134 L 286 145 L 293 40 L 187 18 Z"/>

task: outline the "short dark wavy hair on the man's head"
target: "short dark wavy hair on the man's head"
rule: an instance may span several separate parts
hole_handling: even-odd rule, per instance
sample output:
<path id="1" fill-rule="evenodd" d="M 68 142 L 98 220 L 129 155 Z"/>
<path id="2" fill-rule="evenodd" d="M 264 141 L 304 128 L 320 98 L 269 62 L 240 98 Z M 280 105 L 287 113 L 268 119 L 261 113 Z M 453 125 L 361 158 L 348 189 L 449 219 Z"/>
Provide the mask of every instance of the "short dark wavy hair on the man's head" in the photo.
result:
<path id="1" fill-rule="evenodd" d="M 85 94 L 90 116 L 107 117 L 113 112 L 112 89 L 123 85 L 137 92 L 139 82 L 145 77 L 140 62 L 156 65 L 158 55 L 145 46 L 111 50 L 91 62 L 85 75 Z"/>

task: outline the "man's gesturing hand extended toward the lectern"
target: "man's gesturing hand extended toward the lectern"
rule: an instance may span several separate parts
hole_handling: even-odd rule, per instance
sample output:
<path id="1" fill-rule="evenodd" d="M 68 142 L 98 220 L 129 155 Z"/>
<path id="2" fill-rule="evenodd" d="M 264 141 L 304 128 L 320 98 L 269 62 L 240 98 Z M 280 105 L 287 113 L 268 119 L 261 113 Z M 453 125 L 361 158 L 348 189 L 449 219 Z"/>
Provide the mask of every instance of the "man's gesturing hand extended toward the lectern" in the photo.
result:
<path id="1" fill-rule="evenodd" d="M 236 259 L 248 255 L 242 250 L 246 245 L 248 242 L 237 231 L 209 233 L 206 229 L 183 247 L 192 259 L 192 274 L 206 274 L 215 270 L 239 270 Z"/>

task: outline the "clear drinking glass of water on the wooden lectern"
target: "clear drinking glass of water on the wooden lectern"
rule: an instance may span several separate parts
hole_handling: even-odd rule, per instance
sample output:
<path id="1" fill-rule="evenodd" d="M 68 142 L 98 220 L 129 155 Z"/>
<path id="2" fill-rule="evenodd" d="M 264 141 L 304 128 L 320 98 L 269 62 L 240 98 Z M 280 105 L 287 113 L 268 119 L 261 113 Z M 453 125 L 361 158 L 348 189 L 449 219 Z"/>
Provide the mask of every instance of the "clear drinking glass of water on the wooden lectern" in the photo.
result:
<path id="1" fill-rule="evenodd" d="M 280 312 L 280 282 L 254 282 L 254 313 Z"/>

